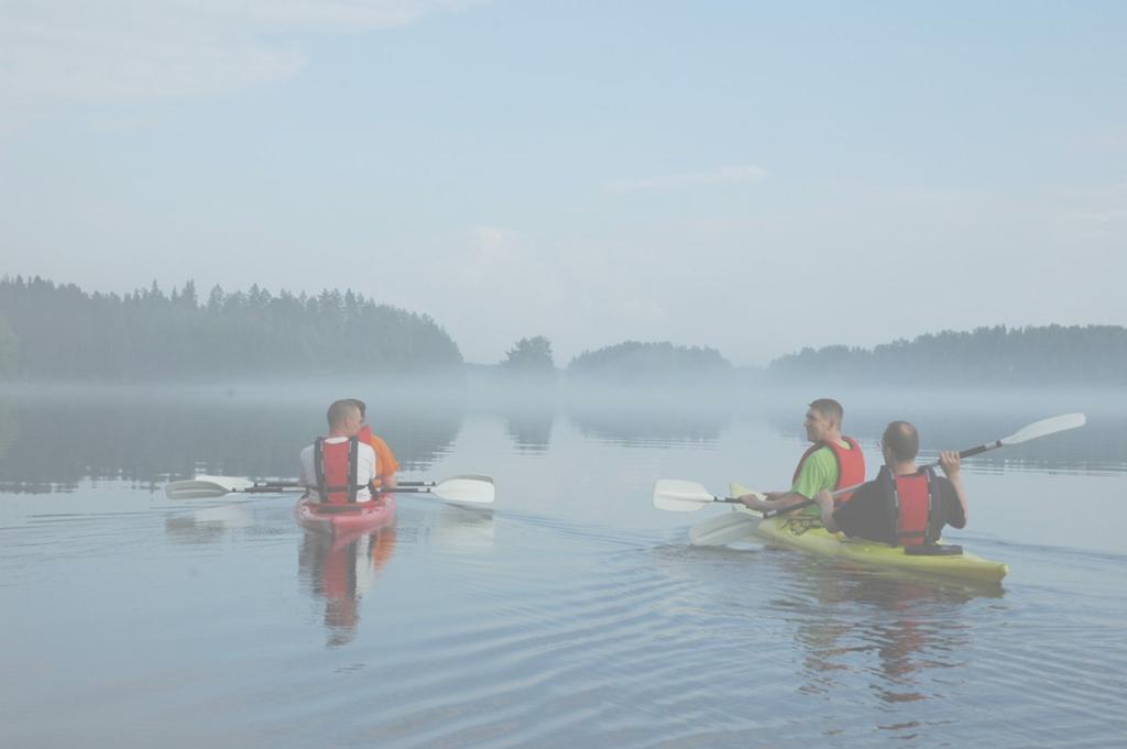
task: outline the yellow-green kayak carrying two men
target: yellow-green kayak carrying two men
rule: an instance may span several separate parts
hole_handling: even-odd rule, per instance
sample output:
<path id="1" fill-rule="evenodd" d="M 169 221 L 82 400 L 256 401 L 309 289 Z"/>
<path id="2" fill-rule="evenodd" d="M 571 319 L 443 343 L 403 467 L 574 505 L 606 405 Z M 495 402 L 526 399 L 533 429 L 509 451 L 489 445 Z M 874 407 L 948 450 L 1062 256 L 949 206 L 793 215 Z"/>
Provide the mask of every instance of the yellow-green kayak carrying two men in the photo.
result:
<path id="1" fill-rule="evenodd" d="M 735 483 L 730 488 L 735 497 L 749 491 Z M 738 507 L 737 511 L 760 517 L 758 514 L 743 507 Z M 755 528 L 755 535 L 819 556 L 846 559 L 905 572 L 922 572 L 978 582 L 1000 582 L 1010 571 L 1004 562 L 993 562 L 968 552 L 951 555 L 906 554 L 903 546 L 889 546 L 864 538 L 850 538 L 841 533 L 829 533 L 822 527 L 817 518 L 801 515 L 767 518 Z"/>

